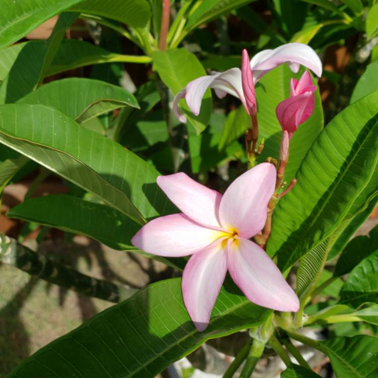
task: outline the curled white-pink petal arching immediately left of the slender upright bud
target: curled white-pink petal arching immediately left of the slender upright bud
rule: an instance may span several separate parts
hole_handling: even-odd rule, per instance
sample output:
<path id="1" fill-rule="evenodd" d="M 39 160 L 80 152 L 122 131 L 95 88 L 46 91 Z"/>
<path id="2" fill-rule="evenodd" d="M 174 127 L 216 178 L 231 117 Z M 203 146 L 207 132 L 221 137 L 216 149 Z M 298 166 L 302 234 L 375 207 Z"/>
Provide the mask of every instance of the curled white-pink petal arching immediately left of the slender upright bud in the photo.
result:
<path id="1" fill-rule="evenodd" d="M 213 73 L 213 75 L 201 76 L 186 86 L 186 103 L 195 115 L 201 110 L 202 99 L 208 88 L 217 89 L 217 95 L 224 96 L 229 93 L 245 103 L 242 87 L 241 72 L 238 68 L 231 68 L 225 72 Z"/>

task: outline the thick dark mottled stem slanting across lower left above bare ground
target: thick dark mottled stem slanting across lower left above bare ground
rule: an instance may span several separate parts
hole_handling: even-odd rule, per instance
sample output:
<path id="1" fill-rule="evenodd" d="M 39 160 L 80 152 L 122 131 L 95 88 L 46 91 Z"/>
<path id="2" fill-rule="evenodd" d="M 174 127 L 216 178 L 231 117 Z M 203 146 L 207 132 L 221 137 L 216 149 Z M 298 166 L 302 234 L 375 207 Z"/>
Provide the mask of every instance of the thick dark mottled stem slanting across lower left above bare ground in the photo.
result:
<path id="1" fill-rule="evenodd" d="M 135 288 L 98 280 L 57 264 L 2 233 L 0 233 L 0 262 L 38 276 L 47 282 L 115 303 L 137 291 Z"/>

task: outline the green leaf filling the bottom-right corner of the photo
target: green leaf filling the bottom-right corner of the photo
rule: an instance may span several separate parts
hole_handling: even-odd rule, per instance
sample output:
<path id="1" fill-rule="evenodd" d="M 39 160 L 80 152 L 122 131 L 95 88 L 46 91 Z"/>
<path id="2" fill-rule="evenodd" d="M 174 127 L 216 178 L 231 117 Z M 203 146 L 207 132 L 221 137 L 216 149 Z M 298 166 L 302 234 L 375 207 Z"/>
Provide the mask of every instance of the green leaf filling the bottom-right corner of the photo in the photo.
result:
<path id="1" fill-rule="evenodd" d="M 361 335 L 337 337 L 320 342 L 321 349 L 331 360 L 338 378 L 376 378 L 378 339 Z"/>

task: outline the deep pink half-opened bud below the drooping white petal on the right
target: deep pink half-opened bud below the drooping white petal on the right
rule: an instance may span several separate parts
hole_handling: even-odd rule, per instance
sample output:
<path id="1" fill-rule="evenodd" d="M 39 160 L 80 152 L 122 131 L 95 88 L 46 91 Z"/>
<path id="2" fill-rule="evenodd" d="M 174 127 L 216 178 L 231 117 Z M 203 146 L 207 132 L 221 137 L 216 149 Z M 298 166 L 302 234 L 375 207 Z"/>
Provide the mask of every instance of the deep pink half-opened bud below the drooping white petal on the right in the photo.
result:
<path id="1" fill-rule="evenodd" d="M 293 136 L 298 125 L 312 114 L 315 102 L 313 93 L 316 89 L 308 71 L 303 73 L 299 81 L 291 79 L 290 97 L 280 102 L 276 108 L 278 121 L 282 130 L 289 133 L 289 138 Z"/>

